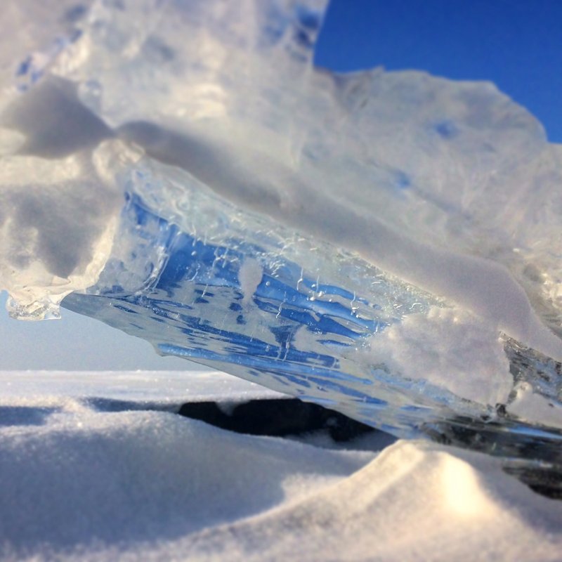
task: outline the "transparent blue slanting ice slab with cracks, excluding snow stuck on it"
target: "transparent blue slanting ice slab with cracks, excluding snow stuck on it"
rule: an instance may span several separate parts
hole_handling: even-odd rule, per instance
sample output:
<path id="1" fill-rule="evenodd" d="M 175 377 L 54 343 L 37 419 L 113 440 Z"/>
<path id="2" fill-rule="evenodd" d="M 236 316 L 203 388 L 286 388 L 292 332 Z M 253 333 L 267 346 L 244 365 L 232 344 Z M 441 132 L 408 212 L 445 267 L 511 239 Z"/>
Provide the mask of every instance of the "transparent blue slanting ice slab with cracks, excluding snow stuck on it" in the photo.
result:
<path id="1" fill-rule="evenodd" d="M 466 428 L 504 436 L 490 445 L 497 454 L 527 455 L 532 447 L 521 443 L 538 431 L 544 446 L 535 457 L 561 462 L 560 426 L 510 411 L 521 384 L 545 407 L 561 408 L 560 363 L 500 336 L 509 360 L 503 403 L 470 368 L 465 376 L 483 388 L 478 400 L 423 373 L 405 377 L 377 358 L 377 338 L 406 318 L 424 322 L 450 305 L 355 254 L 241 211 L 168 166 L 148 160 L 121 181 L 126 204 L 115 254 L 98 283 L 67 296 L 65 308 L 148 339 L 159 353 L 332 407 L 397 436 L 447 435 L 463 445 L 451 428 L 464 420 Z M 164 218 L 160 198 L 169 200 L 180 185 L 176 214 Z"/>

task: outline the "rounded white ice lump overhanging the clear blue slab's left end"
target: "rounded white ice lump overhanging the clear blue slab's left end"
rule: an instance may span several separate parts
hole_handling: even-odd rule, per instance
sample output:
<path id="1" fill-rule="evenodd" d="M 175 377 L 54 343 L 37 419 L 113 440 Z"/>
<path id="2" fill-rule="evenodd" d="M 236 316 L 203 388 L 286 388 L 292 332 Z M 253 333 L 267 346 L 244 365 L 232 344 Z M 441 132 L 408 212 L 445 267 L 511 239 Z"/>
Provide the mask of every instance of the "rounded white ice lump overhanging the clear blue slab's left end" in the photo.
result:
<path id="1" fill-rule="evenodd" d="M 15 317 L 56 315 L 67 294 L 98 279 L 119 208 L 100 175 L 84 155 L 2 159 L 0 280 Z"/>

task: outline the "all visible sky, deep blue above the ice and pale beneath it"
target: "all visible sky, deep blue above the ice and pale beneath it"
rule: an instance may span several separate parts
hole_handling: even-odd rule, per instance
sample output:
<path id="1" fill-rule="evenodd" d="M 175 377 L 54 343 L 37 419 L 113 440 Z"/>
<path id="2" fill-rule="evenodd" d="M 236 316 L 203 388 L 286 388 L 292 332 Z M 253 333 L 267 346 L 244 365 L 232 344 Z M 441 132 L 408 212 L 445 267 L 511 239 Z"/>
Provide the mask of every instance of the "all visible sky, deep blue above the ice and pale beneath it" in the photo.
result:
<path id="1" fill-rule="evenodd" d="M 491 80 L 562 142 L 562 0 L 332 0 L 316 63 L 383 65 Z M 4 299 L 0 300 L 4 306 Z M 63 311 L 62 321 L 0 313 L 0 369 L 182 369 L 150 344 Z"/>

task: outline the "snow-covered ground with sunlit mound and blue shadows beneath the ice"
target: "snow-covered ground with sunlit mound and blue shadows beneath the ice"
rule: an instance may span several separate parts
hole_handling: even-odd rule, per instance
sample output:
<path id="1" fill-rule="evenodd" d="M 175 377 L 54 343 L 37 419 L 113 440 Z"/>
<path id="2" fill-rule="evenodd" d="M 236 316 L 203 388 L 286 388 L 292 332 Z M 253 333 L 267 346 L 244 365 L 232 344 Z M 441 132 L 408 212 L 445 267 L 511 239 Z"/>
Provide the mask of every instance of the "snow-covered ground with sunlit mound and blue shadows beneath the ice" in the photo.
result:
<path id="1" fill-rule="evenodd" d="M 241 379 L 0 372 L 0 396 L 4 560 L 561 559 L 562 502 L 491 457 L 377 433 L 345 448 L 247 436 L 174 413 L 282 397 Z"/>

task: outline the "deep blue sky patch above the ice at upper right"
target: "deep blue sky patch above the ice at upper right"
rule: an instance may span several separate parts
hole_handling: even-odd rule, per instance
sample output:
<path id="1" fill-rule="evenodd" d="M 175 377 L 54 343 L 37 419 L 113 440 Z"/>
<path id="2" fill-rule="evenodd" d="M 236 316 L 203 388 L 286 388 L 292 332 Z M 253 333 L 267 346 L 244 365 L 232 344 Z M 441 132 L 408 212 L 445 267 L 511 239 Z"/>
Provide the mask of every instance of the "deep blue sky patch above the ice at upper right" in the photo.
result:
<path id="1" fill-rule="evenodd" d="M 332 0 L 316 63 L 491 80 L 562 143 L 560 0 Z"/>

